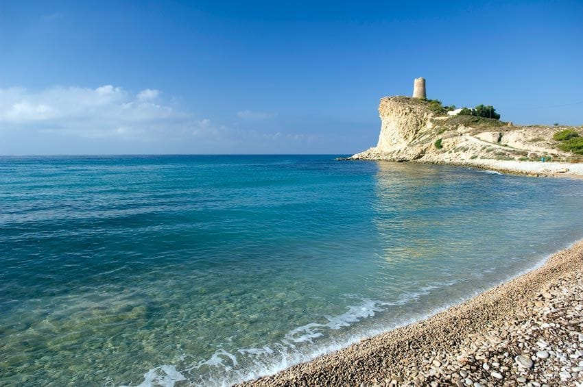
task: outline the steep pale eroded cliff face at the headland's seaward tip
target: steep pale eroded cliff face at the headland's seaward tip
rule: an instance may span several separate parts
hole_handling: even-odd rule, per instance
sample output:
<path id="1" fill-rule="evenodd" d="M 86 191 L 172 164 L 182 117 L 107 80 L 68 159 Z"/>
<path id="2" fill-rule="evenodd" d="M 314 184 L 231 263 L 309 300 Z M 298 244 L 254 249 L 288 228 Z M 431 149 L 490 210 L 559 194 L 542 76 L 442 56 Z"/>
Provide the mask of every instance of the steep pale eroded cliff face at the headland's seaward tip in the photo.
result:
<path id="1" fill-rule="evenodd" d="M 433 124 L 425 101 L 408 97 L 385 97 L 379 105 L 381 134 L 376 147 L 353 155 L 356 160 L 416 160 L 425 154 L 420 143 Z"/>

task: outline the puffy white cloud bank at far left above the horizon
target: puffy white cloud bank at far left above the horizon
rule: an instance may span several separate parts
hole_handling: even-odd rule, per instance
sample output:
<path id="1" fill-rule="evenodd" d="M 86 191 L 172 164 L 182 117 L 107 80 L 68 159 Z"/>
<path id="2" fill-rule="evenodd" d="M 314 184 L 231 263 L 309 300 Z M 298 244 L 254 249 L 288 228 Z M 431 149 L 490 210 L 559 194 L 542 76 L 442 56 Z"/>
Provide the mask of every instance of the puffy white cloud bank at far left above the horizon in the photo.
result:
<path id="1" fill-rule="evenodd" d="M 188 125 L 188 116 L 145 89 L 132 97 L 112 85 L 0 89 L 0 130 L 38 129 L 83 137 L 136 138 Z"/>

